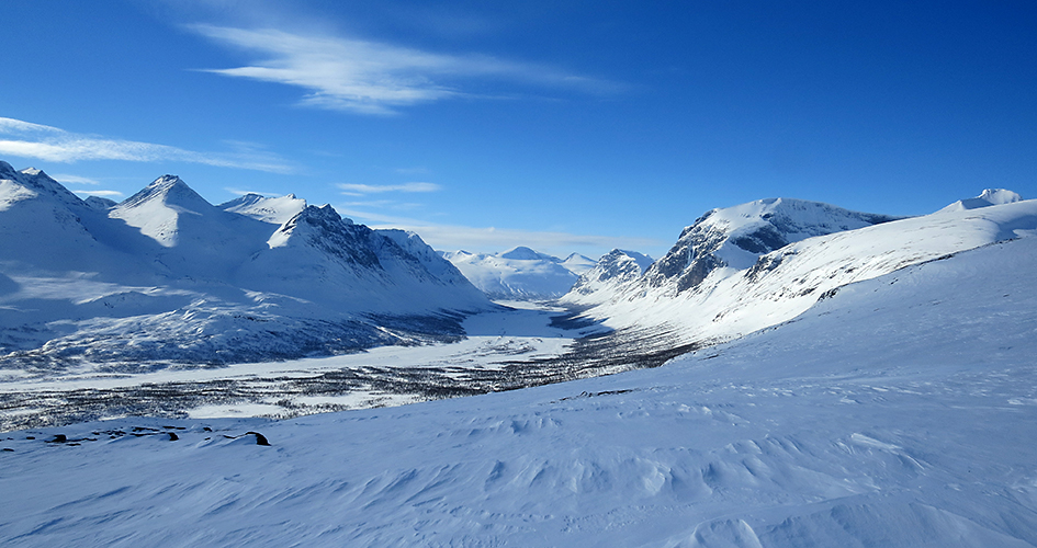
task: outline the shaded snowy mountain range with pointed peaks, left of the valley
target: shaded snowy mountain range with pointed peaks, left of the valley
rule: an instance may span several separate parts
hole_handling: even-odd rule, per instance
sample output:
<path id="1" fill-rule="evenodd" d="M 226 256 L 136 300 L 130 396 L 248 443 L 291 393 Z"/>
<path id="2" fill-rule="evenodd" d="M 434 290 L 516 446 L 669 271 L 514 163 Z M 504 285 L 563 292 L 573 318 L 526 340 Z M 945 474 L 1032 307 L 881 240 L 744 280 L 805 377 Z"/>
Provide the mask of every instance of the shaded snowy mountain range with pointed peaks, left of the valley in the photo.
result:
<path id="1" fill-rule="evenodd" d="M 492 306 L 417 235 L 371 230 L 291 195 L 213 206 L 173 175 L 112 205 L 0 162 L 0 352 L 38 367 L 455 338 L 460 327 L 443 318 Z M 410 320 L 385 329 L 376 318 L 386 317 Z"/>

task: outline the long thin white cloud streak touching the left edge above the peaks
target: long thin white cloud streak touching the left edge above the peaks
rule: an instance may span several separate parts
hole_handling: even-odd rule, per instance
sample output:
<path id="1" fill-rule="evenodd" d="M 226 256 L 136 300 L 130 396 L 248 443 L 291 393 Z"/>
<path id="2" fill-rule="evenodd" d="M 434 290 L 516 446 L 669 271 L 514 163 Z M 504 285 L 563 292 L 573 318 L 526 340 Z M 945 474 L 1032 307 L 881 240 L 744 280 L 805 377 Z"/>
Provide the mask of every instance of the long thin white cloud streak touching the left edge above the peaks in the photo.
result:
<path id="1" fill-rule="evenodd" d="M 255 150 L 195 152 L 168 145 L 75 134 L 5 117 L 0 117 L 0 153 L 64 163 L 81 160 L 181 161 L 271 173 L 294 171 L 278 156 Z"/>

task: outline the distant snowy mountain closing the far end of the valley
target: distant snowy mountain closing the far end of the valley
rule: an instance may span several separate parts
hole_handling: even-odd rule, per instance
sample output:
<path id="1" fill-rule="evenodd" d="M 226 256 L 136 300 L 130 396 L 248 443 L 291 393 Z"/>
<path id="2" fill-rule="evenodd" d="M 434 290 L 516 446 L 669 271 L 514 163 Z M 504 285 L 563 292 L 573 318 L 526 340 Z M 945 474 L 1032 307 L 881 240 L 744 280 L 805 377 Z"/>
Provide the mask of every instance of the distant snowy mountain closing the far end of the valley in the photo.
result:
<path id="1" fill-rule="evenodd" d="M 594 260 L 573 253 L 565 260 L 530 248 L 503 253 L 443 252 L 475 287 L 499 299 L 549 299 L 566 294 Z"/>

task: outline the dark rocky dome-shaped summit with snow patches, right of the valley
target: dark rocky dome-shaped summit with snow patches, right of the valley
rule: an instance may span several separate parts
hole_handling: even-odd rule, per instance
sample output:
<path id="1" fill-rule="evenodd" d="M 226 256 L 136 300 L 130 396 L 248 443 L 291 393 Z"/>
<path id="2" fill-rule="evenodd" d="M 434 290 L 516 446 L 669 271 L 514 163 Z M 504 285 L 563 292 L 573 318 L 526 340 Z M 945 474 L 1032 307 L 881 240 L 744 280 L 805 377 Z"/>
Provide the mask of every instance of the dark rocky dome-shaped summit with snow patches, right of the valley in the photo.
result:
<path id="1" fill-rule="evenodd" d="M 701 284 L 717 269 L 748 269 L 759 255 L 791 242 L 897 218 L 791 198 L 712 209 L 681 231 L 677 243 L 645 274 L 645 282 L 681 293 Z"/>

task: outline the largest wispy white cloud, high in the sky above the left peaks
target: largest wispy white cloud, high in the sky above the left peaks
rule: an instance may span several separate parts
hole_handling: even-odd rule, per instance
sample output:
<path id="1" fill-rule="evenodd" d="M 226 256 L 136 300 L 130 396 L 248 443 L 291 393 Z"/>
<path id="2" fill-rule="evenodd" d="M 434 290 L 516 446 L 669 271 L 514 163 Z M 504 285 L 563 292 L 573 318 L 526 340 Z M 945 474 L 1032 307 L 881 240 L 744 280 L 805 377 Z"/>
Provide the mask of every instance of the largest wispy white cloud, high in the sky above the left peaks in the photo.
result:
<path id="1" fill-rule="evenodd" d="M 537 88 L 616 92 L 621 84 L 533 64 L 486 55 L 447 55 L 339 36 L 277 28 L 198 24 L 214 42 L 257 54 L 245 67 L 203 69 L 216 75 L 295 85 L 301 103 L 359 114 L 395 114 L 401 106 L 458 96 L 485 96 L 473 82 L 510 82 Z M 505 94 L 508 94 L 506 92 Z"/>

